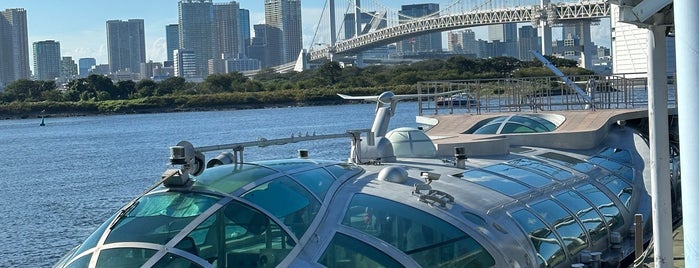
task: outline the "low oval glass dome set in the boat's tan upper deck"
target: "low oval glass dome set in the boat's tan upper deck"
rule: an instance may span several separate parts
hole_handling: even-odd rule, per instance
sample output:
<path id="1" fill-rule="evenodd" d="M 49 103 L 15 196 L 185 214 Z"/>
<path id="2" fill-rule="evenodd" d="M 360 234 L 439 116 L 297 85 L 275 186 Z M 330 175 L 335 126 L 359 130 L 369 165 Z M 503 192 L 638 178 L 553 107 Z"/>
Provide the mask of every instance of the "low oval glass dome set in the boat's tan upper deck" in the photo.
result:
<path id="1" fill-rule="evenodd" d="M 554 114 L 515 114 L 483 120 L 467 134 L 543 133 L 556 130 L 564 118 Z"/>

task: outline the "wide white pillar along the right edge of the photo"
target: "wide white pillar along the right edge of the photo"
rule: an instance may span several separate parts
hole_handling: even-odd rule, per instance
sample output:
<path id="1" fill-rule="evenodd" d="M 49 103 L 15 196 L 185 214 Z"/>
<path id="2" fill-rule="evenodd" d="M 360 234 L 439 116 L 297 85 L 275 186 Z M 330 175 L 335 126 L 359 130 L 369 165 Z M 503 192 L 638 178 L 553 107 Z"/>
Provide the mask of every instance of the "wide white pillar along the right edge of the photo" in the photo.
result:
<path id="1" fill-rule="evenodd" d="M 675 46 L 677 52 L 677 110 L 682 154 L 682 221 L 699 222 L 699 1 L 675 0 Z M 686 267 L 699 267 L 699 228 L 684 228 Z"/>

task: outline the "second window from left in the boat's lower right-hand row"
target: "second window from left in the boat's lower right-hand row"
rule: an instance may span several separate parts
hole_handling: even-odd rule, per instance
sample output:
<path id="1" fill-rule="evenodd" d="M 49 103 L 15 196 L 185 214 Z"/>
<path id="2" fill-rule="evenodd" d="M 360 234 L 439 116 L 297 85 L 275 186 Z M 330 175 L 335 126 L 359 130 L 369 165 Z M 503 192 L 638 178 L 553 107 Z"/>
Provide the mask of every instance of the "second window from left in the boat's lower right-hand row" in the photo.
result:
<path id="1" fill-rule="evenodd" d="M 533 204 L 536 211 L 550 226 L 556 229 L 563 239 L 563 244 L 568 248 L 570 255 L 575 255 L 587 247 L 587 234 L 580 224 L 575 221 L 573 215 L 551 200 L 543 200 Z"/>

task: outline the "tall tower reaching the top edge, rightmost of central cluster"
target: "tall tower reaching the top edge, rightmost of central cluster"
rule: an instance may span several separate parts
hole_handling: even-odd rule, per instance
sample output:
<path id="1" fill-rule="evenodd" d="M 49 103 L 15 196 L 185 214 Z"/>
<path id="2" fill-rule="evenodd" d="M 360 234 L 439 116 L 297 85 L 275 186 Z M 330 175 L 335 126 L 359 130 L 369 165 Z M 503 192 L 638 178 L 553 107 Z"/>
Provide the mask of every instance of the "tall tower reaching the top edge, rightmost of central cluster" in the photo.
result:
<path id="1" fill-rule="evenodd" d="M 303 50 L 301 0 L 265 0 L 265 23 L 282 34 L 281 46 L 268 42 L 268 48 L 281 52 L 282 63 L 295 61 Z"/>

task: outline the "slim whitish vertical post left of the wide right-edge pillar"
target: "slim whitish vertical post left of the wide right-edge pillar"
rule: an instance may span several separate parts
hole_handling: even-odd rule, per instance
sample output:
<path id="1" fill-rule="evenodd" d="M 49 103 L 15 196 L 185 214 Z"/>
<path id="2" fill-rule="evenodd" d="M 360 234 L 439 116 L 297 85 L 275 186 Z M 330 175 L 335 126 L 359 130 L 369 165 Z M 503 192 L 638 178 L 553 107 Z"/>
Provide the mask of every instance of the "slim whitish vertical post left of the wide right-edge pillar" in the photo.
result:
<path id="1" fill-rule="evenodd" d="M 663 21 L 662 14 L 655 16 L 660 16 L 656 21 Z M 650 25 L 650 31 L 648 31 L 648 84 L 650 85 L 648 89 L 648 119 L 655 267 L 673 266 L 666 28 L 667 26 L 664 25 Z M 694 105 L 696 106 L 696 104 Z M 683 175 L 686 177 L 686 174 Z M 694 179 L 691 176 L 689 178 Z M 686 210 L 683 209 L 683 211 Z"/>

